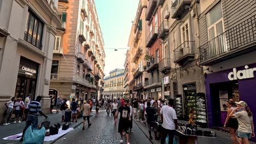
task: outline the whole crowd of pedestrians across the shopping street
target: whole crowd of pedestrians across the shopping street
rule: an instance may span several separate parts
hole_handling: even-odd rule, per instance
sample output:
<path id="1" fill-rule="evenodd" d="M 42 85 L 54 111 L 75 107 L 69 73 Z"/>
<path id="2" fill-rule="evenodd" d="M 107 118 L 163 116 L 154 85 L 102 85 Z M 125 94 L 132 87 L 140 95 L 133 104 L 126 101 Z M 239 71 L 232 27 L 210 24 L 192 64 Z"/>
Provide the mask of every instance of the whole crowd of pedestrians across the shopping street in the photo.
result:
<path id="1" fill-rule="evenodd" d="M 15 112 L 14 123 L 21 123 L 21 118 L 26 119 L 26 127 L 24 128 L 23 134 L 26 129 L 32 125 L 33 128 L 38 126 L 38 113 L 47 118 L 41 111 L 40 100 L 42 97 L 38 96 L 36 100 L 30 101 L 31 94 L 25 99 L 25 102 L 21 98 L 11 97 L 10 101 L 4 105 L 7 107 L 5 110 L 4 125 L 10 124 L 10 117 Z M 169 99 L 168 101 L 154 98 L 143 99 L 88 99 L 83 100 L 71 99 L 72 101 L 68 104 L 67 99 L 61 100 L 57 98 L 56 113 L 61 111 L 61 121 L 65 121 L 65 111 L 71 110 L 72 122 L 77 122 L 77 113 L 82 113 L 83 116 L 83 130 L 85 129 L 85 121 L 88 121 L 88 127 L 91 126 L 90 116 L 92 107 L 95 105 L 95 117 L 98 117 L 98 111 L 105 109 L 107 116 L 113 116 L 114 125 L 118 123 L 118 133 L 120 133 L 120 143 L 123 143 L 123 136 L 125 135 L 127 144 L 129 144 L 129 134 L 132 133 L 132 119 L 145 124 L 148 127 L 149 139 L 153 139 L 152 131 L 154 131 L 154 139 L 161 140 L 161 143 L 165 143 L 166 136 L 168 135 L 168 143 L 173 142 L 175 129 L 177 129 L 177 116 L 174 110 L 174 100 Z M 52 103 L 51 103 L 52 104 Z M 245 101 L 234 102 L 232 99 L 226 101 L 226 107 L 228 115 L 224 127 L 228 127 L 232 139 L 232 143 L 249 143 L 249 139 L 254 137 L 254 124 L 252 118 L 252 112 L 249 109 Z M 53 111 L 51 107 L 50 112 Z M 120 116 L 119 116 L 120 113 Z M 161 137 L 158 137 L 158 131 L 155 123 L 161 123 Z M 191 122 L 192 123 L 192 122 Z M 195 124 L 195 123 L 192 123 Z M 22 135 L 23 137 L 23 135 Z M 22 141 L 22 138 L 21 138 Z"/>

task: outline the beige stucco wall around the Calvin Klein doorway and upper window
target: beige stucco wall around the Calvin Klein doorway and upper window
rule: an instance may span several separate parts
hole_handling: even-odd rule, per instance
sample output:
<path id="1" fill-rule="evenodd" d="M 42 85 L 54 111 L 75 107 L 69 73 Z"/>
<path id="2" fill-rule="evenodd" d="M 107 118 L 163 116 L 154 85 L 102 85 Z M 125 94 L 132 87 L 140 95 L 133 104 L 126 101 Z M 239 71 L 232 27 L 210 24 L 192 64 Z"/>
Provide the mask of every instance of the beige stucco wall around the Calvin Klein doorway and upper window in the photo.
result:
<path id="1" fill-rule="evenodd" d="M 3 46 L 0 57 L 2 60 L 0 61 L 0 113 L 5 110 L 3 104 L 15 95 L 21 56 L 39 64 L 35 97 L 42 96 L 43 112 L 49 111 L 49 85 L 45 85 L 45 80 L 50 79 L 49 71 L 53 57 L 55 27 L 60 19 L 57 18 L 56 13 L 53 13 L 53 10 L 48 11 L 47 7 L 51 9 L 47 1 L 28 1 L 27 3 L 27 1 L 17 0 L 3 1 L 2 3 L 0 17 L 4 21 L 0 21 L 0 28 L 6 29 L 10 35 L 6 37 L 6 41 L 0 39 L 2 40 L 0 44 Z M 42 50 L 23 40 L 28 8 L 37 13 L 44 22 Z M 3 123 L 3 116 L 0 116 L 0 123 Z"/>

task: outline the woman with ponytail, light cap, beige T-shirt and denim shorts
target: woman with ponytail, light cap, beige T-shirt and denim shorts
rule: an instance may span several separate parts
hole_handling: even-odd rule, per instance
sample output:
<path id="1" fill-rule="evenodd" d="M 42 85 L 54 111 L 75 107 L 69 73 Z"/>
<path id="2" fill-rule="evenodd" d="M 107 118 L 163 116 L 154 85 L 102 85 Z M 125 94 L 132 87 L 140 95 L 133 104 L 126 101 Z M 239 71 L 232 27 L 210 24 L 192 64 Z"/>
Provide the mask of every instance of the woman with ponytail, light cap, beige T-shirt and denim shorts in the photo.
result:
<path id="1" fill-rule="evenodd" d="M 238 137 L 242 138 L 243 144 L 249 144 L 249 139 L 255 136 L 252 112 L 245 101 L 239 101 L 236 104 L 237 107 L 230 112 L 229 117 L 237 118 Z"/>

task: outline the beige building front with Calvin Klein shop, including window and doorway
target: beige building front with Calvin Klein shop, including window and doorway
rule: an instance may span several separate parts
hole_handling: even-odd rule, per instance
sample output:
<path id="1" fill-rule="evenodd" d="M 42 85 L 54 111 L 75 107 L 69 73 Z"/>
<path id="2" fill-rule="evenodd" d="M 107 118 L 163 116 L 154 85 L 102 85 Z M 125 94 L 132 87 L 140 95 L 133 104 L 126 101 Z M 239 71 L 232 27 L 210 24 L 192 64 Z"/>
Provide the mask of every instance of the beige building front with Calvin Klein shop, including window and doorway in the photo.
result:
<path id="1" fill-rule="evenodd" d="M 31 100 L 42 96 L 42 109 L 49 111 L 49 71 L 61 23 L 57 2 L 0 1 L 0 113 L 10 97 L 24 100 L 28 94 Z"/>

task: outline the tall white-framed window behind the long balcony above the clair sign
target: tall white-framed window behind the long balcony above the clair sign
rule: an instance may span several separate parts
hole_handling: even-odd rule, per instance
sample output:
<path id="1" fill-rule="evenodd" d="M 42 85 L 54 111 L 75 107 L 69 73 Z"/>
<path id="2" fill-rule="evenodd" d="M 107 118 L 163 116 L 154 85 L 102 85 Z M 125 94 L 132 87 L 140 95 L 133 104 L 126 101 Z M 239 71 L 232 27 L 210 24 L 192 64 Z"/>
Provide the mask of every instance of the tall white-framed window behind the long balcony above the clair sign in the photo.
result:
<path id="1" fill-rule="evenodd" d="M 206 22 L 207 22 L 207 29 L 208 29 L 208 39 L 212 40 L 216 38 L 218 35 L 222 34 L 224 32 L 224 26 L 223 26 L 223 16 L 222 16 L 222 5 L 221 3 L 218 3 L 214 8 L 212 8 L 207 14 L 206 14 Z M 219 41 L 223 43 L 225 38 L 220 38 Z M 223 44 L 222 44 L 223 45 Z M 226 49 L 226 46 L 223 45 L 224 50 Z M 213 49 L 212 55 L 216 55 L 219 52 L 218 47 L 218 41 L 211 41 L 211 47 Z"/>

